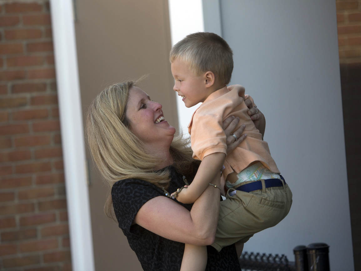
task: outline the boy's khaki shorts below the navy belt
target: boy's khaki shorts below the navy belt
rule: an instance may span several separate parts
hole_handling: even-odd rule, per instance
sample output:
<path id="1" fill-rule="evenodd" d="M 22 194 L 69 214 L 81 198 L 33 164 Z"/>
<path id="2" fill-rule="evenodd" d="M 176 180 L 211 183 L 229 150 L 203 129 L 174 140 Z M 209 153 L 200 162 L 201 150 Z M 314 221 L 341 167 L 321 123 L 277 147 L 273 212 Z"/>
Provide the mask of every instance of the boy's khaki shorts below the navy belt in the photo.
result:
<path id="1" fill-rule="evenodd" d="M 252 182 L 252 181 L 251 181 Z M 244 184 L 251 183 L 245 182 Z M 255 233 L 277 225 L 290 211 L 292 192 L 287 184 L 252 192 L 236 191 L 221 201 L 216 240 L 212 246 L 218 252 L 238 241 L 247 242 Z"/>

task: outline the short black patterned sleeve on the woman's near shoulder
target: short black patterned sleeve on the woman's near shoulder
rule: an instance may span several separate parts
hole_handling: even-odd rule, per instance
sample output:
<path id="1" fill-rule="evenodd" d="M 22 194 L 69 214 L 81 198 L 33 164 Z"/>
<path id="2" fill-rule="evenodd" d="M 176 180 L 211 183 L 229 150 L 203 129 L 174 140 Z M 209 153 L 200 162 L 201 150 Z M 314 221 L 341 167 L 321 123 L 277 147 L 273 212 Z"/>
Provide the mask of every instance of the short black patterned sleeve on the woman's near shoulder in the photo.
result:
<path id="1" fill-rule="evenodd" d="M 125 236 L 131 234 L 131 226 L 140 207 L 157 196 L 162 196 L 161 189 L 143 180 L 126 179 L 113 185 L 114 213 Z"/>

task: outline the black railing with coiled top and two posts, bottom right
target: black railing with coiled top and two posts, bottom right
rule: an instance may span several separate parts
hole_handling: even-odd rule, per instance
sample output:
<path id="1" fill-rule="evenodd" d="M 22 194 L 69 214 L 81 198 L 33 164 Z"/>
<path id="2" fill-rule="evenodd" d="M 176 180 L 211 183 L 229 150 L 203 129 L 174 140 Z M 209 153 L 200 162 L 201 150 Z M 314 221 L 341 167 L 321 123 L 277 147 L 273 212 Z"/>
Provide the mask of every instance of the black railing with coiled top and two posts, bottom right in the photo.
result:
<path id="1" fill-rule="evenodd" d="M 324 243 L 300 245 L 293 249 L 295 262 L 285 255 L 242 253 L 239 264 L 243 271 L 330 271 L 329 246 Z"/>

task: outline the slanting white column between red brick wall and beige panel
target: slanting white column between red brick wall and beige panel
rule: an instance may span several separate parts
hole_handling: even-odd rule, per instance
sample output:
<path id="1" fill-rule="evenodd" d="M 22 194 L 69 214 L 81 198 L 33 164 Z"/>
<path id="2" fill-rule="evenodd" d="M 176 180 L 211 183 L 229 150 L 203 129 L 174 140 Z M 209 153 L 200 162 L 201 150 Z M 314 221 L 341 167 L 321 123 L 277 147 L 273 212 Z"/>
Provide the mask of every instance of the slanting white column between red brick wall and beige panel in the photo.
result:
<path id="1" fill-rule="evenodd" d="M 72 267 L 76 271 L 93 271 L 93 242 L 73 3 L 71 0 L 50 2 Z"/>

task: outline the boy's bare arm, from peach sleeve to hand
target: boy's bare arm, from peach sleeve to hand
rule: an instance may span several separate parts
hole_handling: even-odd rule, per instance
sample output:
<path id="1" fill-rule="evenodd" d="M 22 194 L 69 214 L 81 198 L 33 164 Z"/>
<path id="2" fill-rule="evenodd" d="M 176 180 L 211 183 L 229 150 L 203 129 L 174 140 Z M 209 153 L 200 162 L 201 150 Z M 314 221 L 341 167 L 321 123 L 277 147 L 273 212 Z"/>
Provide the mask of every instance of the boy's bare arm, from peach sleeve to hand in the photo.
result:
<path id="1" fill-rule="evenodd" d="M 226 154 L 220 152 L 204 157 L 192 183 L 178 193 L 177 200 L 183 203 L 195 202 L 209 186 L 209 183 L 213 182 L 214 176 L 217 176 L 218 179 L 221 177 L 221 167 L 225 158 Z"/>

